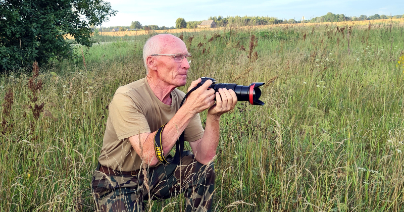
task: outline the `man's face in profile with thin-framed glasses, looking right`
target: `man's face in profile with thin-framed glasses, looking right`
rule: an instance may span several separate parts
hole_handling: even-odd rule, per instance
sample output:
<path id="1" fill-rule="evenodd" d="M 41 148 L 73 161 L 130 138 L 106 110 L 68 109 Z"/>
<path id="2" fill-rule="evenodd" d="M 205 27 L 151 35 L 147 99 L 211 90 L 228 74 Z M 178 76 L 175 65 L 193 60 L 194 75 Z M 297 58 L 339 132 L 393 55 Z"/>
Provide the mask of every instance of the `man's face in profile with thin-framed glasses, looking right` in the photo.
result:
<path id="1" fill-rule="evenodd" d="M 177 53 L 188 54 L 185 43 L 179 38 L 167 41 L 163 52 L 159 52 L 159 54 L 167 55 Z M 158 64 L 157 72 L 160 80 L 175 87 L 184 86 L 186 84 L 189 63 L 185 57 L 182 62 L 175 62 L 174 56 L 156 56 L 156 59 Z"/>

